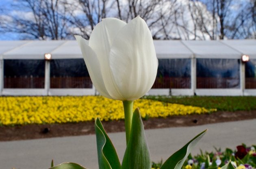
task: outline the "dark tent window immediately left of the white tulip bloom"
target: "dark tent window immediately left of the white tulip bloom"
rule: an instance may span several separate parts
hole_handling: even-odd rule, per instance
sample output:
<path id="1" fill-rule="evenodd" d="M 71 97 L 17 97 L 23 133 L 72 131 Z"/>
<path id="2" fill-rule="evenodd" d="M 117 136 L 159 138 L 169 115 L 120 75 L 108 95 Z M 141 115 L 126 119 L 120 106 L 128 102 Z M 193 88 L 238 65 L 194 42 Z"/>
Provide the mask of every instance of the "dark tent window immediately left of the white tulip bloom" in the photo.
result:
<path id="1" fill-rule="evenodd" d="M 50 88 L 92 88 L 83 59 L 50 61 Z"/>

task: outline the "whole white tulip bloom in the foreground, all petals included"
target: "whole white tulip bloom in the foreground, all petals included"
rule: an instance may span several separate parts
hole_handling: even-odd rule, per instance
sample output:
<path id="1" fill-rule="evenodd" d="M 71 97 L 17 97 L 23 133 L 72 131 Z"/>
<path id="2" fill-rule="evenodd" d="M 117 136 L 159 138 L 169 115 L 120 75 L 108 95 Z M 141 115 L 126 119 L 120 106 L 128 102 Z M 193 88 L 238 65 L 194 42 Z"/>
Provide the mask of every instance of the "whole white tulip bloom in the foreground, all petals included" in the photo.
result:
<path id="1" fill-rule="evenodd" d="M 75 37 L 93 85 L 101 95 L 133 101 L 150 90 L 158 60 L 151 32 L 141 17 L 128 24 L 116 18 L 102 19 L 89 41 Z"/>

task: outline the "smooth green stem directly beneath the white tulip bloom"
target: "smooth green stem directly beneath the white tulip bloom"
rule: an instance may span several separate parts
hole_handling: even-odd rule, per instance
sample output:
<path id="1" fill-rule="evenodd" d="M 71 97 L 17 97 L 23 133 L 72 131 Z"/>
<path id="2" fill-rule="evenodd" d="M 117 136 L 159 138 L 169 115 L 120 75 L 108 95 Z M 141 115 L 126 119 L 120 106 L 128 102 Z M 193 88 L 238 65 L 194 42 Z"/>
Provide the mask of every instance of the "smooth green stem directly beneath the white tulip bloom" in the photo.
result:
<path id="1" fill-rule="evenodd" d="M 123 101 L 123 105 L 124 105 L 126 144 L 128 144 L 131 128 L 132 128 L 133 101 Z"/>

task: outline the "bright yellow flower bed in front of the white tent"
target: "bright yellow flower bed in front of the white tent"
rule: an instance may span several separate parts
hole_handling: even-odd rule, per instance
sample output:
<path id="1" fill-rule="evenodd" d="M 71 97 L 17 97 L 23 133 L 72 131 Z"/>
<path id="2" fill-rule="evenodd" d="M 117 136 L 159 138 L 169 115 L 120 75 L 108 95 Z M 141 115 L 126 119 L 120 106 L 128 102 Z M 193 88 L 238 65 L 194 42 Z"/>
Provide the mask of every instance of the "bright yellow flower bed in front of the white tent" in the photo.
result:
<path id="1" fill-rule="evenodd" d="M 209 113 L 216 109 L 162 103 L 147 99 L 135 101 L 143 118 Z M 24 96 L 0 97 L 0 125 L 46 124 L 124 119 L 121 101 L 102 96 Z"/>

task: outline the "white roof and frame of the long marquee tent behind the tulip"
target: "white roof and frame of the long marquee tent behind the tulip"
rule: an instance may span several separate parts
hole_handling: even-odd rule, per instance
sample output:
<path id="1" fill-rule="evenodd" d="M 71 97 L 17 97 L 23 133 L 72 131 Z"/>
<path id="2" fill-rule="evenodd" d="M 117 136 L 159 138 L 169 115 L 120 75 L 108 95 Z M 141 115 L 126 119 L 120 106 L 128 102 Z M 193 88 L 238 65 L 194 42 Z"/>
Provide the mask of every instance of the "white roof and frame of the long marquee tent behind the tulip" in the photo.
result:
<path id="1" fill-rule="evenodd" d="M 180 60 L 187 62 L 189 68 L 189 88 L 152 88 L 148 94 L 172 95 L 256 95 L 256 88 L 246 88 L 245 63 L 241 56 L 249 55 L 249 59 L 256 70 L 256 40 L 223 40 L 223 41 L 154 41 L 158 60 Z M 44 88 L 5 88 L 4 63 L 6 60 L 44 60 L 44 54 L 51 53 L 52 60 L 82 59 L 76 41 L 0 41 L 0 95 L 93 95 L 95 88 L 51 88 L 50 87 L 50 62 L 45 61 Z M 206 60 L 204 60 L 206 59 Z M 236 87 L 198 87 L 201 63 L 216 64 L 212 60 L 234 60 L 238 65 L 239 84 Z M 238 61 L 238 62 L 237 62 Z M 212 63 L 210 63 L 212 62 Z M 160 63 L 160 62 L 159 62 Z M 225 61 L 225 63 L 228 63 Z M 233 62 L 232 62 L 233 63 Z M 251 65 L 250 64 L 250 65 Z M 209 67 L 210 69 L 210 67 Z M 217 71 L 217 68 L 215 68 Z M 168 68 L 167 68 L 168 70 Z M 255 71 L 254 70 L 254 71 Z M 230 71 L 227 71 L 230 74 Z M 256 73 L 256 71 L 255 71 Z M 232 72 L 231 72 L 232 74 Z M 234 74 L 234 73 L 233 73 Z M 226 75 L 228 76 L 228 75 Z M 159 77 L 160 78 L 160 77 Z M 214 81 L 219 81 L 218 75 Z M 256 77 L 254 77 L 256 79 Z M 251 78 L 251 80 L 254 80 Z M 227 83 L 231 80 L 228 79 Z M 253 81 L 252 83 L 256 83 Z M 254 86 L 256 86 L 254 84 Z"/>

